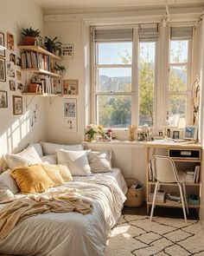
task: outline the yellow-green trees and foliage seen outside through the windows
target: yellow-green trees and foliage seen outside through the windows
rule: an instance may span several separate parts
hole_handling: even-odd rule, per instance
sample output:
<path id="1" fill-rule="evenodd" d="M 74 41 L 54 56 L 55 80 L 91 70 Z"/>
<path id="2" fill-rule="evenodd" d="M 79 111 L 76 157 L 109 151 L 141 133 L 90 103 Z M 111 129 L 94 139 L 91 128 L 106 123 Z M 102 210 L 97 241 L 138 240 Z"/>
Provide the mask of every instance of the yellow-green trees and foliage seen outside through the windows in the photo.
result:
<path id="1" fill-rule="evenodd" d="M 179 42 L 177 51 L 171 52 L 175 63 L 180 63 L 182 56 L 182 42 Z M 126 52 L 120 56 L 124 64 L 131 62 L 131 56 Z M 149 51 L 143 49 L 140 44 L 139 55 L 139 124 L 148 122 L 153 125 L 153 99 L 155 62 L 150 57 Z M 121 74 L 122 76 L 123 74 Z M 179 66 L 169 70 L 169 92 L 186 90 L 185 67 Z M 130 91 L 131 84 L 124 84 L 124 91 Z M 131 124 L 131 96 L 98 96 L 99 124 L 105 128 L 124 128 Z M 169 115 L 184 114 L 186 106 L 185 95 L 169 96 Z"/>

